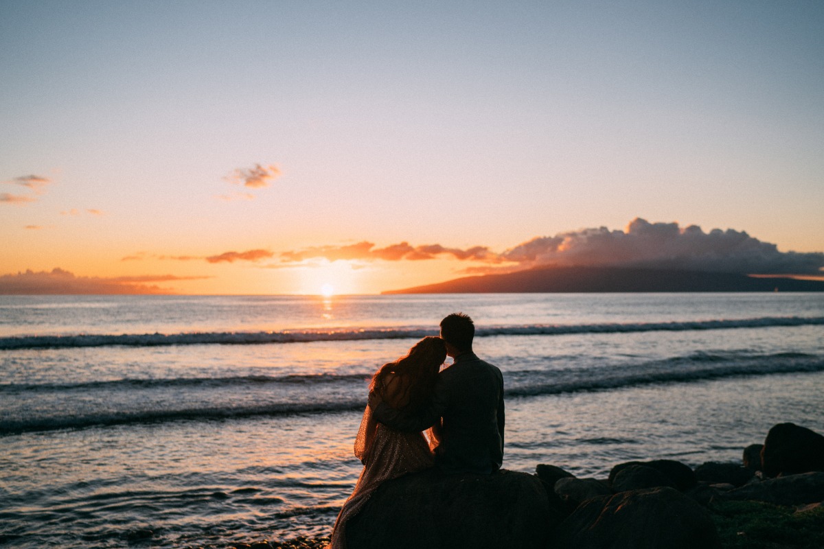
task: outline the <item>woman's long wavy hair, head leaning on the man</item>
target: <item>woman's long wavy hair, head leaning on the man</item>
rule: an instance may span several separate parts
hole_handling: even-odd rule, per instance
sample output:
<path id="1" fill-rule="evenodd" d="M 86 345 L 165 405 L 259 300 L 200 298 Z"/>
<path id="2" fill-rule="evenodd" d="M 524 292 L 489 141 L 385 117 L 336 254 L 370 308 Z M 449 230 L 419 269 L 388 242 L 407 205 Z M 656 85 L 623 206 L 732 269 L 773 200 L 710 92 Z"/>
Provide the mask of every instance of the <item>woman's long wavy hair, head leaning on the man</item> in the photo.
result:
<path id="1" fill-rule="evenodd" d="M 405 356 L 377 370 L 372 376 L 369 390 L 383 393 L 387 376 L 400 375 L 400 386 L 404 388 L 404 393 L 400 395 L 399 401 L 408 401 L 403 406 L 404 410 L 417 411 L 432 396 L 435 382 L 438 380 L 438 371 L 445 360 L 447 360 L 446 343 L 440 337 L 424 337 L 415 343 Z"/>

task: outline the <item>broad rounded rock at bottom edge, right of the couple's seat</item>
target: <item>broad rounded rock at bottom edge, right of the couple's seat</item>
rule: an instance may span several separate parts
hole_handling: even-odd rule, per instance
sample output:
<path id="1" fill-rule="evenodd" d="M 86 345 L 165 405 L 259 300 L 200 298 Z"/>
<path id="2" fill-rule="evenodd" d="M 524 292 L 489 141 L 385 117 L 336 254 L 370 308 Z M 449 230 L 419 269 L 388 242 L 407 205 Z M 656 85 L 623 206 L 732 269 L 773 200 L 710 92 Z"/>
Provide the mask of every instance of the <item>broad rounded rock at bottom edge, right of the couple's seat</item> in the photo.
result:
<path id="1" fill-rule="evenodd" d="M 706 509 L 668 487 L 588 500 L 560 523 L 555 549 L 719 549 Z"/>

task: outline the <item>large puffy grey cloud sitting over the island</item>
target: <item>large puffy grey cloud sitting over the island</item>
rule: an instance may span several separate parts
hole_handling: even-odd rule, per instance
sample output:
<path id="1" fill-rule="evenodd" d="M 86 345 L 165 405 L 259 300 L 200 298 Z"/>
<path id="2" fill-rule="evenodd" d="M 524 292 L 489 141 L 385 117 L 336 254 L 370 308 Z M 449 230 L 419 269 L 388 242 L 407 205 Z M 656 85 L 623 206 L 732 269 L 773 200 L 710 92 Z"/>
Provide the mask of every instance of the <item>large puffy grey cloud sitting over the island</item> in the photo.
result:
<path id="1" fill-rule="evenodd" d="M 502 258 L 521 268 L 542 265 L 589 265 L 672 268 L 707 272 L 815 273 L 822 253 L 780 252 L 746 232 L 699 226 L 649 223 L 636 218 L 625 230 L 606 227 L 541 236 L 508 249 Z"/>

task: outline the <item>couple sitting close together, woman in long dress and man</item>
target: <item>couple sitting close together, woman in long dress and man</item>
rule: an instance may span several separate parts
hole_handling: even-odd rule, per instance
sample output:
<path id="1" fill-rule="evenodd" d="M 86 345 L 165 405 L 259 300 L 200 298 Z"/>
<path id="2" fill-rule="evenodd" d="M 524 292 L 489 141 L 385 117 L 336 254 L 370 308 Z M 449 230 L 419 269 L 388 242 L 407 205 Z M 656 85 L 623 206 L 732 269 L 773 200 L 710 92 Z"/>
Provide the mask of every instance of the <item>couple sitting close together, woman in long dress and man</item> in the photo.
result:
<path id="1" fill-rule="evenodd" d="M 345 549 L 346 523 L 382 482 L 438 468 L 492 474 L 503 463 L 503 377 L 472 351 L 475 324 L 462 313 L 441 323 L 372 376 L 354 453 L 363 463 L 335 527 L 331 549 Z M 447 356 L 452 365 L 441 370 Z"/>

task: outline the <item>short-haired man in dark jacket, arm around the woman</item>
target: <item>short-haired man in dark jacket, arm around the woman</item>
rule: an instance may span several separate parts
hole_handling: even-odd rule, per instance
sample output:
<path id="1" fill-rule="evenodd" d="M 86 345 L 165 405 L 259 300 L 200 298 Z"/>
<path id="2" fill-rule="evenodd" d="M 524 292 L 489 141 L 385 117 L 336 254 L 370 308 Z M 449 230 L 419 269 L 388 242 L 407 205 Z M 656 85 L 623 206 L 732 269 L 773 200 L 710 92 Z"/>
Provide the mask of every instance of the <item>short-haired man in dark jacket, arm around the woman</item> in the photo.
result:
<path id="1" fill-rule="evenodd" d="M 454 363 L 438 374 L 431 405 L 423 414 L 404 416 L 369 395 L 372 414 L 397 430 L 421 431 L 440 422 L 435 465 L 442 472 L 489 474 L 503 463 L 503 377 L 498 367 L 472 352 L 475 324 L 463 313 L 441 321 L 441 338 Z"/>

